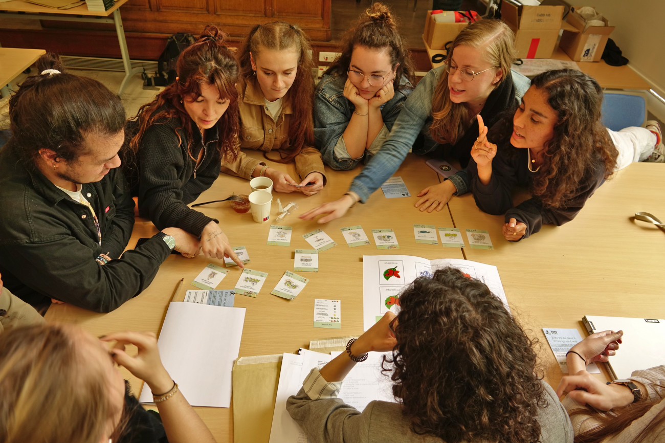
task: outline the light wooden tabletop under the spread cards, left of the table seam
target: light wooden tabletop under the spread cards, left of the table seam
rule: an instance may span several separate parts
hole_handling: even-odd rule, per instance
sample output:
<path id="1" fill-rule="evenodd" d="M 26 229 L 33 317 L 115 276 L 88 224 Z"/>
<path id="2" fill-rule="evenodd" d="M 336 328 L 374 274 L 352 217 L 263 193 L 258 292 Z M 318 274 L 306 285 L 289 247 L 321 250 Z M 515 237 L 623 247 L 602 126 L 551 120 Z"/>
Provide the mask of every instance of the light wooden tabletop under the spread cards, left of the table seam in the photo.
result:
<path id="1" fill-rule="evenodd" d="M 248 152 L 257 156 L 257 152 Z M 271 166 L 273 166 L 271 164 Z M 285 170 L 296 178 L 293 165 L 276 164 L 275 167 Z M 422 213 L 414 208 L 418 200 L 415 196 L 431 184 L 438 182 L 438 175 L 424 164 L 424 159 L 409 154 L 396 175 L 402 176 L 412 197 L 386 199 L 378 190 L 367 204 L 357 204 L 346 217 L 334 220 L 325 225 L 316 222 L 304 222 L 297 218 L 323 202 L 336 200 L 346 190 L 352 178 L 360 168 L 347 172 L 329 170 L 329 182 L 319 194 L 306 197 L 301 193 L 273 194 L 271 220 L 277 216 L 277 202 L 282 204 L 293 201 L 299 205 L 295 214 L 287 216 L 283 225 L 293 227 L 291 245 L 289 247 L 267 246 L 270 223 L 255 223 L 251 214 L 237 214 L 229 208 L 229 202 L 201 206 L 198 209 L 208 216 L 220 220 L 220 225 L 227 233 L 234 246 L 245 245 L 251 261 L 247 267 L 269 273 L 268 278 L 257 298 L 236 295 L 235 306 L 245 307 L 245 325 L 240 345 L 239 356 L 267 355 L 276 353 L 293 353 L 300 347 L 307 348 L 310 340 L 343 335 L 359 335 L 362 333 L 362 255 L 404 254 L 418 255 L 427 259 L 463 258 L 459 248 L 442 247 L 441 245 L 420 245 L 414 240 L 414 223 L 452 226 L 453 222 L 447 210 L 436 214 Z M 221 175 L 212 188 L 204 192 L 198 202 L 226 198 L 232 192 L 248 194 L 247 180 Z M 274 222 L 273 222 L 274 223 Z M 350 248 L 346 245 L 341 227 L 362 225 L 371 237 L 371 229 L 390 227 L 394 229 L 400 243 L 400 249 L 378 250 L 374 241 L 372 245 Z M 321 252 L 319 255 L 319 273 L 299 273 L 310 279 L 310 282 L 293 301 L 270 295 L 285 270 L 293 271 L 293 251 L 295 249 L 311 249 L 311 245 L 301 235 L 317 228 L 323 229 L 337 243 L 336 246 Z M 134 247 L 140 237 L 150 237 L 157 229 L 147 220 L 136 221 L 130 247 Z M 216 261 L 215 261 L 216 262 Z M 182 300 L 187 289 L 197 289 L 189 283 L 209 263 L 208 259 L 199 256 L 185 259 L 178 255 L 170 256 L 160 267 L 154 281 L 138 297 L 108 314 L 98 314 L 72 305 L 53 305 L 49 308 L 48 321 L 62 323 L 78 323 L 93 335 L 102 335 L 112 331 L 136 330 L 159 332 L 168 301 L 178 281 L 184 277 L 185 284 L 176 301 Z M 231 267 L 229 275 L 219 285 L 219 289 L 232 289 L 239 278 L 238 267 Z M 313 328 L 314 299 L 337 298 L 342 301 L 342 328 Z M 132 390 L 138 395 L 142 382 L 124 371 L 125 378 L 130 380 Z M 219 442 L 233 441 L 232 410 L 225 408 L 196 408 Z"/>

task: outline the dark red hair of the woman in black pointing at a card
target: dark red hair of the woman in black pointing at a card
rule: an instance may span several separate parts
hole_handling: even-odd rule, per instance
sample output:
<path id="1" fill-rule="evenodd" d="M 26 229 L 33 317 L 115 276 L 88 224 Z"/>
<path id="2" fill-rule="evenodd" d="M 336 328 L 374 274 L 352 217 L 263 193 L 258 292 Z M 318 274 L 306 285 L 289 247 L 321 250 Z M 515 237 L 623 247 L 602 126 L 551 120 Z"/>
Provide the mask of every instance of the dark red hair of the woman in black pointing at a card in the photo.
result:
<path id="1" fill-rule="evenodd" d="M 180 57 L 176 72 L 176 82 L 166 86 L 156 98 L 141 106 L 138 115 L 138 133 L 130 142 L 130 148 L 136 154 L 141 138 L 148 127 L 160 119 L 178 118 L 188 136 L 187 150 L 192 155 L 192 118 L 182 103 L 184 97 L 201 95 L 201 84 L 214 84 L 219 90 L 219 97 L 229 100 L 229 107 L 217 122 L 219 141 L 217 149 L 229 162 L 237 156 L 235 140 L 240 130 L 238 120 L 238 93 L 235 83 L 238 79 L 238 63 L 227 47 L 223 44 L 224 33 L 215 26 L 206 26 L 199 39 L 187 47 Z M 178 132 L 176 131 L 176 135 Z M 178 138 L 180 136 L 178 135 Z M 182 140 L 180 140 L 182 142 Z"/>

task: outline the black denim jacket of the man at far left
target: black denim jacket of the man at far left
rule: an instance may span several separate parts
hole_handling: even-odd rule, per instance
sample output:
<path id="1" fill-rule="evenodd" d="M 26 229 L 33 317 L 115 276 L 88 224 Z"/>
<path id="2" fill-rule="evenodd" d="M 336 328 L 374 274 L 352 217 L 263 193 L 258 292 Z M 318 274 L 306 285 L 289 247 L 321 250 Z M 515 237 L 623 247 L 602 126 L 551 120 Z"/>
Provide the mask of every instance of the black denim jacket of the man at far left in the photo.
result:
<path id="1" fill-rule="evenodd" d="M 146 289 L 170 250 L 160 237 L 124 251 L 134 202 L 120 168 L 82 186 L 98 218 L 101 245 L 86 206 L 74 202 L 39 170 L 28 169 L 12 140 L 0 150 L 0 272 L 5 286 L 31 305 L 51 298 L 108 312 Z M 105 265 L 95 259 L 104 253 Z"/>

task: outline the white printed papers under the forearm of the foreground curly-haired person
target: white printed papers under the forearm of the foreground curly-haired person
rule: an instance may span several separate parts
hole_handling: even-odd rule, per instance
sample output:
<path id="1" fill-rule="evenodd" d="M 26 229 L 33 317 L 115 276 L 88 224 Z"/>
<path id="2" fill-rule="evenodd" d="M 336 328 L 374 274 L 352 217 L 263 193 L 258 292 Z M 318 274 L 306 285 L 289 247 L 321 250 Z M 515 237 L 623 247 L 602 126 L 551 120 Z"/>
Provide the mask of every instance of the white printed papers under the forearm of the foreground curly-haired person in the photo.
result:
<path id="1" fill-rule="evenodd" d="M 298 393 L 305 377 L 314 367 L 323 367 L 340 352 L 343 351 L 332 351 L 332 355 L 329 355 L 301 349 L 299 354 L 283 355 L 270 443 L 307 443 L 307 435 L 287 412 L 287 398 Z M 344 377 L 339 398 L 360 411 L 372 400 L 394 402 L 390 374 L 381 373 L 383 356 L 382 353 L 369 353 L 366 361 L 358 363 Z"/>

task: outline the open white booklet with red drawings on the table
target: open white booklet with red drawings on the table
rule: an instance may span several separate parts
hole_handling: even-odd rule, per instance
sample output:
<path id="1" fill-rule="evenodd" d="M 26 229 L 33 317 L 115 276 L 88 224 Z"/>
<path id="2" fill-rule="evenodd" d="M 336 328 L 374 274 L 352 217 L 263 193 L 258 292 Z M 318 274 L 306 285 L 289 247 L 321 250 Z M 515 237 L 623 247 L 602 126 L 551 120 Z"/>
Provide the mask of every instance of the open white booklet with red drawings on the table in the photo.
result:
<path id="1" fill-rule="evenodd" d="M 463 259 L 428 260 L 412 255 L 362 256 L 362 325 L 367 331 L 397 302 L 404 287 L 416 277 L 431 277 L 436 269 L 452 266 L 480 280 L 505 306 L 508 301 L 496 266 Z"/>

